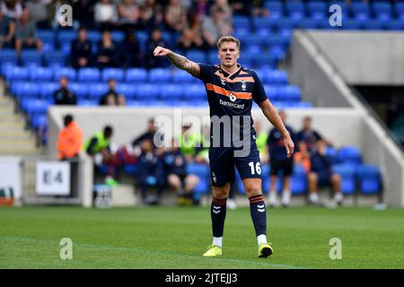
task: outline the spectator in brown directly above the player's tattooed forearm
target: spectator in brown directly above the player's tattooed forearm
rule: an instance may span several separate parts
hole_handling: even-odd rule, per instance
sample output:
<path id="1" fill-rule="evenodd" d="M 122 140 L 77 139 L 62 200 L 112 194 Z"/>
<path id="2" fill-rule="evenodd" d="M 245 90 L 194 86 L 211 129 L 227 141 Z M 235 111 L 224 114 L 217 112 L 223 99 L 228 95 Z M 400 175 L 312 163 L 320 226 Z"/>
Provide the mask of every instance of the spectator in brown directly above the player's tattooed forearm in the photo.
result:
<path id="1" fill-rule="evenodd" d="M 184 51 L 191 48 L 206 48 L 198 13 L 189 14 L 189 23 L 179 39 L 179 45 Z"/>

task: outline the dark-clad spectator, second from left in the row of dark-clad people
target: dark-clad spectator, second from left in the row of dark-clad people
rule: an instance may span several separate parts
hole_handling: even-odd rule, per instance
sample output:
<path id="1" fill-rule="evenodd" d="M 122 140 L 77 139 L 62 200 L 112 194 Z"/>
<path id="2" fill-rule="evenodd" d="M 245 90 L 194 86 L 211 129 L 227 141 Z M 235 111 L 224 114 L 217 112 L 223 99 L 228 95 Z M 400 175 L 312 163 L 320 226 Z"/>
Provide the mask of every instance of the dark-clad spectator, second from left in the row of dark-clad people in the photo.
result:
<path id="1" fill-rule="evenodd" d="M 111 67 L 117 65 L 118 51 L 115 43 L 112 41 L 110 30 L 104 30 L 101 40 L 98 43 L 97 57 L 95 65 L 99 68 Z"/>

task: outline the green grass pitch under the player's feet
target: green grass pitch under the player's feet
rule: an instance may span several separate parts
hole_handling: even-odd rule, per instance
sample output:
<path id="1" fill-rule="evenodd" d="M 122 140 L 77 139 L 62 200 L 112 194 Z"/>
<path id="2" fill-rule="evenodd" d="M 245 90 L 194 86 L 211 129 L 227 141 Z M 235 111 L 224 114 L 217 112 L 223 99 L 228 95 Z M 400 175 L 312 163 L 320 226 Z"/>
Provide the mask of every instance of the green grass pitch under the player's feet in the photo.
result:
<path id="1" fill-rule="evenodd" d="M 0 268 L 403 268 L 404 211 L 371 207 L 268 209 L 274 254 L 257 257 L 249 208 L 227 211 L 224 255 L 211 244 L 208 207 L 0 208 Z M 73 259 L 59 257 L 60 239 Z M 329 240 L 342 241 L 331 260 Z"/>

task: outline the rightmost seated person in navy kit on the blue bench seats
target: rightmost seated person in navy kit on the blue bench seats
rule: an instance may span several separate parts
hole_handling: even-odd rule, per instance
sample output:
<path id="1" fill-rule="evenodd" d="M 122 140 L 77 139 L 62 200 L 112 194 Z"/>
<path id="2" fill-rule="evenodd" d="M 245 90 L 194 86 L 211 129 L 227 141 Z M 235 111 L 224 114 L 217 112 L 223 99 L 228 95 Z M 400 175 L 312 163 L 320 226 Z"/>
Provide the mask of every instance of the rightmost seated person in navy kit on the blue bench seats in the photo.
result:
<path id="1" fill-rule="evenodd" d="M 332 159 L 327 155 L 324 141 L 316 142 L 316 150 L 312 154 L 312 170 L 309 173 L 309 204 L 319 204 L 318 187 L 332 186 L 333 201 L 342 204 L 341 177 L 332 171 Z"/>

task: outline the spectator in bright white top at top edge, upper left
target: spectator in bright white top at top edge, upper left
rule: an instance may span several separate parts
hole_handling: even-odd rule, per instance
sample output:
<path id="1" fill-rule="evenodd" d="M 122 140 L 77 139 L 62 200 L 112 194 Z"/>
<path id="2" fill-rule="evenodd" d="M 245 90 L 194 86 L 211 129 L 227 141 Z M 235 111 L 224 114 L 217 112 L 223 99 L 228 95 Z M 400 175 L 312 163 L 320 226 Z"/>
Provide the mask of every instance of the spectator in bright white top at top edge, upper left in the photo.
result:
<path id="1" fill-rule="evenodd" d="M 94 6 L 94 22 L 101 30 L 111 30 L 118 22 L 118 11 L 111 0 L 101 0 Z"/>

